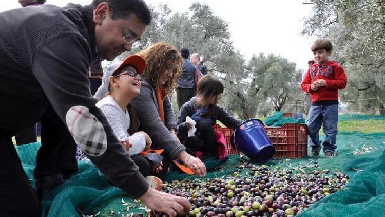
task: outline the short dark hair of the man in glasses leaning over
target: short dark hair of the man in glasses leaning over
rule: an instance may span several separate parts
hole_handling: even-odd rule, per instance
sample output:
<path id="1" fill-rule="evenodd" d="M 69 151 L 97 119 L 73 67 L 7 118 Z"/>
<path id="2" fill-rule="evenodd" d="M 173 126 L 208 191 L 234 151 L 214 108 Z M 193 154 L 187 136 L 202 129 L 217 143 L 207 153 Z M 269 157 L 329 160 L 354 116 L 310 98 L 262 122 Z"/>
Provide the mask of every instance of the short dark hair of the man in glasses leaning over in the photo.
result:
<path id="1" fill-rule="evenodd" d="M 111 19 L 126 19 L 131 13 L 138 16 L 139 20 L 145 25 L 151 23 L 151 12 L 147 4 L 143 0 L 93 0 L 91 5 L 96 9 L 102 2 L 107 3 L 111 8 Z"/>

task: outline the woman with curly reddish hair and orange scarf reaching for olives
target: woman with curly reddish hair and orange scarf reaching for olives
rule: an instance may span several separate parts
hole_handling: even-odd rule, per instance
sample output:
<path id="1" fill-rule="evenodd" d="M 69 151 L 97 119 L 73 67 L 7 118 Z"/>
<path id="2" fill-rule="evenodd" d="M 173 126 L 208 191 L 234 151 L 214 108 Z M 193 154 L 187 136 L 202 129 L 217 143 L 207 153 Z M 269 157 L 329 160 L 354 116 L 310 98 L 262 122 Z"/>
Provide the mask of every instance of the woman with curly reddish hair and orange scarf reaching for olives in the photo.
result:
<path id="1" fill-rule="evenodd" d="M 157 176 L 165 177 L 166 159 L 178 159 L 195 175 L 204 176 L 206 167 L 203 162 L 189 155 L 176 135 L 177 124 L 167 95 L 175 91 L 181 73 L 183 59 L 180 52 L 168 43 L 156 43 L 137 54 L 146 60 L 146 68 L 140 94 L 130 104 L 138 113 L 139 130 L 152 139 L 151 148 L 164 149 L 163 170 Z"/>

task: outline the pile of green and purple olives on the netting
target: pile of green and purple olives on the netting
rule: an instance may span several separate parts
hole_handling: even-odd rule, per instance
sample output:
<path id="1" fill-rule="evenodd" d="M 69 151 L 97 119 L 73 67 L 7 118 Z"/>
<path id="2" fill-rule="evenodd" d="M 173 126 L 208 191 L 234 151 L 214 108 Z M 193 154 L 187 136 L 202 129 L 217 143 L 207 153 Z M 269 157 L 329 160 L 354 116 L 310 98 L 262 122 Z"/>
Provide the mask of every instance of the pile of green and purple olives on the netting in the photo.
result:
<path id="1" fill-rule="evenodd" d="M 241 175 L 244 168 L 247 174 Z M 274 169 L 243 162 L 232 175 L 213 179 L 175 180 L 164 192 L 188 198 L 188 216 L 295 216 L 339 189 L 349 177 L 329 170 Z"/>

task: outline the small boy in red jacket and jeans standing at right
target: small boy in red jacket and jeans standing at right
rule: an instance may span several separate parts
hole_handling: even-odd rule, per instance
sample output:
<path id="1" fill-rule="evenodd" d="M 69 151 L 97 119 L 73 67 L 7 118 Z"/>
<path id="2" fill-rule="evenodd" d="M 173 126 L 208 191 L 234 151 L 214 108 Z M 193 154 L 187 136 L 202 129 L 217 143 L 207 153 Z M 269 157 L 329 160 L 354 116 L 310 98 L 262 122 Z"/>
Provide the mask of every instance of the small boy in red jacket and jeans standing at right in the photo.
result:
<path id="1" fill-rule="evenodd" d="M 311 139 L 312 155 L 318 156 L 321 150 L 321 141 L 318 132 L 323 125 L 326 139 L 323 141 L 325 157 L 333 157 L 336 147 L 338 122 L 338 90 L 345 88 L 347 77 L 342 66 L 330 61 L 332 43 L 318 39 L 312 45 L 316 63 L 307 70 L 301 88 L 310 93 L 312 106 L 307 118 L 307 128 Z"/>

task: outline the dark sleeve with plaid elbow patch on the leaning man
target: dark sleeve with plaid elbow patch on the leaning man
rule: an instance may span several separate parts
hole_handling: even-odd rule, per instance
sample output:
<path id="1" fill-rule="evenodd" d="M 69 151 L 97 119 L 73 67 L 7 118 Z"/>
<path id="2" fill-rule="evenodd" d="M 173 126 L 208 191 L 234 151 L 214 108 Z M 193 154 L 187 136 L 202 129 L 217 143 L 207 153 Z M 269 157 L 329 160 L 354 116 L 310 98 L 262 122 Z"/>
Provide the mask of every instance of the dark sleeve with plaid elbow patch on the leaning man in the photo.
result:
<path id="1" fill-rule="evenodd" d="M 130 197 L 140 197 L 148 183 L 91 96 L 87 77 L 90 53 L 84 38 L 68 34 L 36 52 L 32 72 L 76 144 L 95 166 Z"/>

